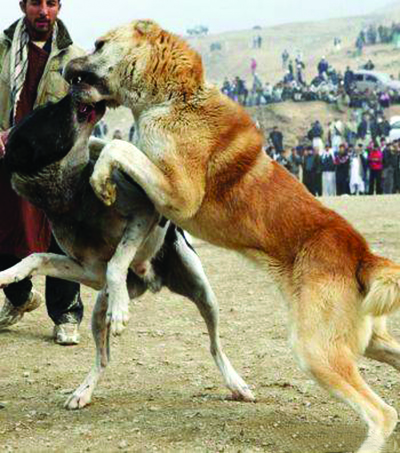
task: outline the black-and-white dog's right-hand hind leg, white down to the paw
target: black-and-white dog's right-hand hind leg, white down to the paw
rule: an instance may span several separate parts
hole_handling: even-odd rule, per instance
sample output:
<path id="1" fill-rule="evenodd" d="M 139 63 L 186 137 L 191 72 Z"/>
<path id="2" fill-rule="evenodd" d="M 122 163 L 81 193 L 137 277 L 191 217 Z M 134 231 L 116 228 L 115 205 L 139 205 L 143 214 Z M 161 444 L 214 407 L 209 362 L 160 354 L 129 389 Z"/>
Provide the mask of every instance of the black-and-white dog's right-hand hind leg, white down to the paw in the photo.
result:
<path id="1" fill-rule="evenodd" d="M 248 385 L 239 376 L 221 348 L 218 323 L 219 309 L 214 292 L 204 273 L 201 261 L 183 236 L 178 234 L 175 259 L 170 264 L 168 288 L 193 301 L 203 317 L 210 338 L 211 355 L 222 374 L 226 386 L 236 400 L 254 401 Z"/>

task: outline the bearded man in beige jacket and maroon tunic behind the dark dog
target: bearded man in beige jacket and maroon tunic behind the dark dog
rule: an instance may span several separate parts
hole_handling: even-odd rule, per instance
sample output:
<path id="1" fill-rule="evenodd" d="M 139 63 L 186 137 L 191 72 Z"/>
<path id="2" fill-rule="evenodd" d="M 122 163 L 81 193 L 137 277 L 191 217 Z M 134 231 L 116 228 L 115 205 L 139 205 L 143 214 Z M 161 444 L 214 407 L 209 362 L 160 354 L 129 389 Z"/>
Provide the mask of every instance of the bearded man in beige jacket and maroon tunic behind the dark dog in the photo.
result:
<path id="1" fill-rule="evenodd" d="M 57 18 L 60 0 L 22 0 L 20 8 L 24 16 L 0 35 L 0 156 L 12 126 L 36 106 L 65 96 L 69 87 L 61 75 L 63 68 L 84 54 Z M 12 190 L 1 160 L 0 210 L 0 270 L 33 252 L 62 253 L 42 211 Z M 42 301 L 30 279 L 11 284 L 4 294 L 0 329 L 16 324 Z M 83 315 L 79 285 L 47 278 L 46 303 L 55 341 L 77 344 Z"/>

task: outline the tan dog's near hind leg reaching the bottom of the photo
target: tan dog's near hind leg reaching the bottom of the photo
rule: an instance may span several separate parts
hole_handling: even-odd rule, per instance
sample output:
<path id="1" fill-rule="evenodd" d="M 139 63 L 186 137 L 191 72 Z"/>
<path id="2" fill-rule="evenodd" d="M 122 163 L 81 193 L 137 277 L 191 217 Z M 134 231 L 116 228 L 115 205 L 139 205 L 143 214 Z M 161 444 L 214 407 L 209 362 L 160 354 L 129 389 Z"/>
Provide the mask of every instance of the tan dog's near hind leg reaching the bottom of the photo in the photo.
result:
<path id="1" fill-rule="evenodd" d="M 367 423 L 368 435 L 358 453 L 379 453 L 396 426 L 397 413 L 366 384 L 356 365 L 359 351 L 355 348 L 365 328 L 355 300 L 357 289 L 352 282 L 326 285 L 325 280 L 318 285 L 312 276 L 310 281 L 294 302 L 294 352 L 301 367 L 321 387 L 346 402 Z"/>

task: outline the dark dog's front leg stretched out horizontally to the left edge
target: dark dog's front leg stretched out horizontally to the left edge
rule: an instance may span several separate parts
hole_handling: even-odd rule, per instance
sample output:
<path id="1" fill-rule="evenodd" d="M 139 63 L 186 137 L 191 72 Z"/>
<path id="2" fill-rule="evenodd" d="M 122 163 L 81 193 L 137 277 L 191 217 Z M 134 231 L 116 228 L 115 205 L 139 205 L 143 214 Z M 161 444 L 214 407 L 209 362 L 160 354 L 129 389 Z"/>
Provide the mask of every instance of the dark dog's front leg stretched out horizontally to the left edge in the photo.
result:
<path id="1" fill-rule="evenodd" d="M 102 269 L 85 268 L 68 256 L 54 253 L 33 253 L 15 266 L 0 272 L 0 288 L 34 275 L 45 275 L 100 289 L 104 286 L 104 274 Z"/>

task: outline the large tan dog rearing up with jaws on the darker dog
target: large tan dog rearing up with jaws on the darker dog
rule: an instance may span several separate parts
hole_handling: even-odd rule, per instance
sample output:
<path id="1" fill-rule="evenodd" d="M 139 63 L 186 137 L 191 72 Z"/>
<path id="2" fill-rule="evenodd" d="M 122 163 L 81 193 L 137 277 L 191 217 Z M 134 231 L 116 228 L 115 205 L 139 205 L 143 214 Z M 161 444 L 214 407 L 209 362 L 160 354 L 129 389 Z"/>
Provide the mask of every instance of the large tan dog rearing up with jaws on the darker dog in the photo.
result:
<path id="1" fill-rule="evenodd" d="M 364 418 L 359 452 L 381 451 L 397 413 L 356 360 L 400 370 L 385 317 L 400 307 L 400 267 L 372 254 L 346 220 L 269 159 L 246 111 L 205 83 L 199 55 L 153 22 L 108 33 L 66 77 L 85 102 L 123 104 L 136 119 L 137 147 L 116 140 L 96 164 L 92 186 L 103 201 L 114 201 L 111 172 L 119 168 L 161 214 L 272 272 L 301 368 Z"/>

